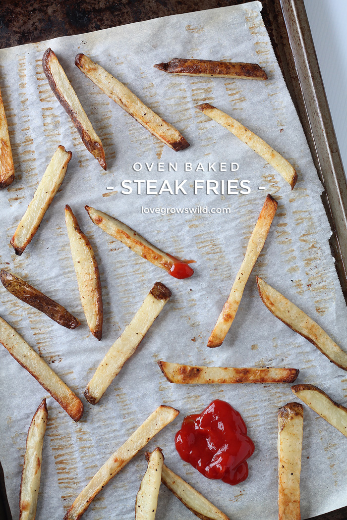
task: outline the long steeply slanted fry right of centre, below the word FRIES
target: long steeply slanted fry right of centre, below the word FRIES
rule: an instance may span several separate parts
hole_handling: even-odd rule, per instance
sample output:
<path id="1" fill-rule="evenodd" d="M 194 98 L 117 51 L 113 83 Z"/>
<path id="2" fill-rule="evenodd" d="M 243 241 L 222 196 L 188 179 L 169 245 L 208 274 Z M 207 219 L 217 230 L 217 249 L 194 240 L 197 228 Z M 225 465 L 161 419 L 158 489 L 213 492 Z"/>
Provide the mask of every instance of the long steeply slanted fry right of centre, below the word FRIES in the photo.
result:
<path id="1" fill-rule="evenodd" d="M 254 264 L 264 247 L 276 210 L 277 202 L 273 197 L 271 197 L 271 195 L 267 194 L 262 211 L 260 212 L 258 221 L 252 231 L 251 238 L 249 239 L 245 258 L 243 258 L 229 297 L 225 302 L 223 310 L 209 337 L 209 347 L 219 347 L 222 345 L 224 338 L 234 321 L 242 298 L 243 290 L 245 289 Z"/>

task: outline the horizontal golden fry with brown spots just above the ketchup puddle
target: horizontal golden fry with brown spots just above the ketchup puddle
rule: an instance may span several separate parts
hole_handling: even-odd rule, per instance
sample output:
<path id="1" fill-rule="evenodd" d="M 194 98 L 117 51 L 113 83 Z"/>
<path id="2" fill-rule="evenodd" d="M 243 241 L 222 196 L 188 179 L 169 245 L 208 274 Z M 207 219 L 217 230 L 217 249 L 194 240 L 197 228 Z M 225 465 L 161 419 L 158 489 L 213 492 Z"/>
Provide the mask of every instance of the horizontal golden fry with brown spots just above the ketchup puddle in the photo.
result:
<path id="1" fill-rule="evenodd" d="M 299 375 L 296 368 L 232 368 L 191 367 L 158 361 L 160 370 L 170 383 L 293 383 Z"/>

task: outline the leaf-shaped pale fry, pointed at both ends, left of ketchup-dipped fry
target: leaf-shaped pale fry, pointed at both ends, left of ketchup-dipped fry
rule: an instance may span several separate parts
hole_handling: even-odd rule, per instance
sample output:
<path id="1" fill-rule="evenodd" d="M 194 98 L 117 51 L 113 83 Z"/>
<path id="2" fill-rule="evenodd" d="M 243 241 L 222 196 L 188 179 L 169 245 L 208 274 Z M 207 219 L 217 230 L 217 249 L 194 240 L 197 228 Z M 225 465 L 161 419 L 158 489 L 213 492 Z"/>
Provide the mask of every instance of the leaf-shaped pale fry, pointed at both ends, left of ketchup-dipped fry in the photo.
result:
<path id="1" fill-rule="evenodd" d="M 81 230 L 69 205 L 65 206 L 65 223 L 84 315 L 93 336 L 100 341 L 104 310 L 98 263 L 91 243 Z"/>

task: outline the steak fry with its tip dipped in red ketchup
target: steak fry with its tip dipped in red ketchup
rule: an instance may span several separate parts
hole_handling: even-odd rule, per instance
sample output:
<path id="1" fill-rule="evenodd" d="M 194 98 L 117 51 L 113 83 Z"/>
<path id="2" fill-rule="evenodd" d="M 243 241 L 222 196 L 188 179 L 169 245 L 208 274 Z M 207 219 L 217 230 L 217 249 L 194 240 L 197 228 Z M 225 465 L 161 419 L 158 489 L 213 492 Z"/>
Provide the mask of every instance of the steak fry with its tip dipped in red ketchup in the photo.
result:
<path id="1" fill-rule="evenodd" d="M 146 258 L 152 264 L 161 267 L 174 278 L 189 278 L 194 271 L 182 260 L 164 253 L 155 245 L 148 242 L 132 228 L 123 224 L 120 220 L 111 217 L 107 213 L 96 210 L 91 206 L 84 206 L 92 222 L 106 231 L 111 237 L 116 238 L 134 253 Z"/>

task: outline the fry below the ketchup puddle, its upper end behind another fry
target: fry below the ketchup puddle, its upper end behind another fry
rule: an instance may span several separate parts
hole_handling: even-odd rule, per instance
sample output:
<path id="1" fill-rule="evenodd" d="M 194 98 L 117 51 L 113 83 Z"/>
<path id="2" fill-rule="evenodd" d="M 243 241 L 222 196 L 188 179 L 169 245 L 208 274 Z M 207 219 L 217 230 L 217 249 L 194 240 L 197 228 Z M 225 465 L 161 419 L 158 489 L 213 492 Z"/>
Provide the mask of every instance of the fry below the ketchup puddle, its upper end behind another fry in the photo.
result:
<path id="1" fill-rule="evenodd" d="M 181 500 L 189 511 L 201 520 L 229 520 L 229 518 L 216 508 L 199 491 L 190 486 L 183 478 L 176 475 L 163 464 L 161 482 Z"/>

